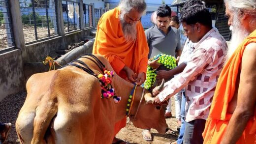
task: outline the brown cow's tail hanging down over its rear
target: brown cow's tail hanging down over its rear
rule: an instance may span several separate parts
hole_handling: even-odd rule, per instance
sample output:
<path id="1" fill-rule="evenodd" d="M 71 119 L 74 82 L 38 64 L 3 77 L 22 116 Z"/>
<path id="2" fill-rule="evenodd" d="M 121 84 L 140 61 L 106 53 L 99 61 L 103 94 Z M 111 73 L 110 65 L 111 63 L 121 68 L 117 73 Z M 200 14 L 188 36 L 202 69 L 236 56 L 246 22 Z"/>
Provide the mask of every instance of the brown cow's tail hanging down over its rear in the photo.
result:
<path id="1" fill-rule="evenodd" d="M 56 98 L 57 99 L 57 98 Z M 46 144 L 44 140 L 45 133 L 50 127 L 53 117 L 57 114 L 58 107 L 56 100 L 49 100 L 36 110 L 36 116 L 33 124 L 33 138 L 31 144 Z"/>

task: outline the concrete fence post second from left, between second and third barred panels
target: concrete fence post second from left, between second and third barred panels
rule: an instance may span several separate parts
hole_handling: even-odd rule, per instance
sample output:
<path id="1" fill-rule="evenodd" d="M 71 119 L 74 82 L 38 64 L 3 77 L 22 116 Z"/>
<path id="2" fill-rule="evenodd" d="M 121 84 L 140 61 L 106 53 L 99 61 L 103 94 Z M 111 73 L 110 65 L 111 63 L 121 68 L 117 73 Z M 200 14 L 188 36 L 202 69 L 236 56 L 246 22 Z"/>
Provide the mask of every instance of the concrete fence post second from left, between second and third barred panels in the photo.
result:
<path id="1" fill-rule="evenodd" d="M 56 11 L 57 11 L 57 18 L 56 19 L 58 20 L 59 35 L 64 36 L 62 0 L 55 0 L 55 2 L 56 2 Z"/>

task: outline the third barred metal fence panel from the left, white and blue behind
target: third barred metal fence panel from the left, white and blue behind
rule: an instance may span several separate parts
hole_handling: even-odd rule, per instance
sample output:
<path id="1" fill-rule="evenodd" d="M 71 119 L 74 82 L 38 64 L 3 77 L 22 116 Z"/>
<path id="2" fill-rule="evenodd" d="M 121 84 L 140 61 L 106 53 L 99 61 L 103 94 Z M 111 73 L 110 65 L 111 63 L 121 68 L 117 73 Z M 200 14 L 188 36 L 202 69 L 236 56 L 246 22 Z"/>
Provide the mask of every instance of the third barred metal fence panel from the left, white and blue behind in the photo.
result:
<path id="1" fill-rule="evenodd" d="M 73 0 L 62 0 L 65 32 L 80 29 L 79 4 Z"/>

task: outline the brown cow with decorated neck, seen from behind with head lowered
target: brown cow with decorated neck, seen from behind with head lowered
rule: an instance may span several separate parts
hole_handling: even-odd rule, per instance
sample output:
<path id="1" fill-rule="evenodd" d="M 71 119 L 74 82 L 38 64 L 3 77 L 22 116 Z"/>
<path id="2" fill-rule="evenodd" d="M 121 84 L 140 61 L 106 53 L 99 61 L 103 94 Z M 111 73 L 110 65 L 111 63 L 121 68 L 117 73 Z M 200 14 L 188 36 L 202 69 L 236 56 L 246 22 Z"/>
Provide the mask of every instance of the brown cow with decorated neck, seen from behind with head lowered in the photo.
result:
<path id="1" fill-rule="evenodd" d="M 108 70 L 113 68 L 101 56 L 96 56 Z M 87 58 L 79 58 L 99 74 L 98 66 Z M 113 99 L 101 99 L 99 81 L 93 75 L 75 67 L 32 75 L 27 82 L 27 98 L 18 115 L 16 130 L 22 144 L 111 144 L 114 124 L 126 116 L 128 95 L 133 84 L 113 77 L 112 86 L 119 104 Z M 143 88 L 136 88 L 131 115 L 135 115 Z M 157 109 L 154 98 L 145 91 L 134 126 L 142 129 L 154 128 L 164 134 L 168 130 L 164 108 Z"/>

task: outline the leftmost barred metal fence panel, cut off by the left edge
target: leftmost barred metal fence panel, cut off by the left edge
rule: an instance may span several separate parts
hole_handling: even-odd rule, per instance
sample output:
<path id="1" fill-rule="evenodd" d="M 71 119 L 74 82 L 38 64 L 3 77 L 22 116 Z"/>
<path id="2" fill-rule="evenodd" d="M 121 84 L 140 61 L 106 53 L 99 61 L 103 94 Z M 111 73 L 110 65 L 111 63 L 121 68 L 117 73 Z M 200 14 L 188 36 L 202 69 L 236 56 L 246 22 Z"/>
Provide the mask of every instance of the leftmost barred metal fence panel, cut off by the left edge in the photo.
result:
<path id="1" fill-rule="evenodd" d="M 0 50 L 15 45 L 11 24 L 8 0 L 0 0 Z"/>

